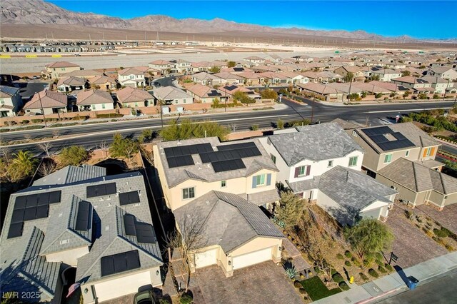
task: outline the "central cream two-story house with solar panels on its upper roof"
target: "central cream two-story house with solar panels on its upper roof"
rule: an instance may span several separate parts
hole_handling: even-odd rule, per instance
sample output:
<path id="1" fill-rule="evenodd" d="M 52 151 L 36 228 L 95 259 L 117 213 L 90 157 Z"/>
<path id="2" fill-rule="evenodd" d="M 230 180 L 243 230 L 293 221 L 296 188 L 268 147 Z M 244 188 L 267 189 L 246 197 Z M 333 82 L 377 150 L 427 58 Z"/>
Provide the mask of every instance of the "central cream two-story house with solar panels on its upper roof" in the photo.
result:
<path id="1" fill-rule="evenodd" d="M 239 268 L 281 259 L 283 235 L 258 208 L 278 201 L 278 169 L 258 140 L 169 141 L 153 152 L 176 228 L 189 229 L 189 221 L 204 225 L 208 243 L 194 253 L 192 268 L 218 264 L 231 276 Z"/>

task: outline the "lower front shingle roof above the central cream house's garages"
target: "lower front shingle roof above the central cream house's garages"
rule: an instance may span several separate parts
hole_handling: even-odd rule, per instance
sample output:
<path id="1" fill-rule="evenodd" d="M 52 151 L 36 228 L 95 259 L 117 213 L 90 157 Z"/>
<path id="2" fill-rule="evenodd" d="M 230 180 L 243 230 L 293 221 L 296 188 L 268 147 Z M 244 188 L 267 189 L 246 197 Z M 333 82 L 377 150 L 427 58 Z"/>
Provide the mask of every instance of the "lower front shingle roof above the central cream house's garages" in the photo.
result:
<path id="1" fill-rule="evenodd" d="M 283 238 L 283 234 L 253 203 L 231 193 L 211 191 L 174 211 L 178 226 L 186 216 L 204 220 L 207 246 L 220 245 L 231 253 L 257 236 Z"/>

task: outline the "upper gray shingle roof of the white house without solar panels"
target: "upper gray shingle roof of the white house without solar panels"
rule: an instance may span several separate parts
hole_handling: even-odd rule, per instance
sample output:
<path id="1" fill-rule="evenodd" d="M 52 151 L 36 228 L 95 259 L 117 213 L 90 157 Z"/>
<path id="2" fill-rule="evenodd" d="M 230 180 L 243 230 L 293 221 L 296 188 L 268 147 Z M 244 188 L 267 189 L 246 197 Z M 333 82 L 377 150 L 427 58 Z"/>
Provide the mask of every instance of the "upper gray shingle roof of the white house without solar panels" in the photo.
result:
<path id="1" fill-rule="evenodd" d="M 299 126 L 298 132 L 268 136 L 288 166 L 305 159 L 321 161 L 338 158 L 353 151 L 362 151 L 361 146 L 338 123 L 321 123 Z"/>

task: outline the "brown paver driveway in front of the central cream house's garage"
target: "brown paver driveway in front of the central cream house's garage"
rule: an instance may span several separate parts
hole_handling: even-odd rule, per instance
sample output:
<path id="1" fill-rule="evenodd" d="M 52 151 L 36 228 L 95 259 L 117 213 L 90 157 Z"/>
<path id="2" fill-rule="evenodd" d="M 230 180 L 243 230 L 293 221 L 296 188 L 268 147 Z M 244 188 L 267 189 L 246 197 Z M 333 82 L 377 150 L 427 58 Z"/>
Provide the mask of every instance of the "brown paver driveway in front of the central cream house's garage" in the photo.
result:
<path id="1" fill-rule="evenodd" d="M 219 266 L 196 271 L 196 304 L 303 303 L 281 265 L 273 261 L 235 270 L 226 278 Z"/>

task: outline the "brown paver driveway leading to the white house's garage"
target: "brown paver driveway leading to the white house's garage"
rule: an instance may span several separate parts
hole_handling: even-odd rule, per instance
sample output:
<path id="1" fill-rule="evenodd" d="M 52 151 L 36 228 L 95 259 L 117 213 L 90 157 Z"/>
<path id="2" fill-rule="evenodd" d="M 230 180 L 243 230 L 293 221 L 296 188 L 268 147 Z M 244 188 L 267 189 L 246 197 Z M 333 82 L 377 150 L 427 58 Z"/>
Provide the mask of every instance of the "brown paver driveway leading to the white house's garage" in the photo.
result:
<path id="1" fill-rule="evenodd" d="M 448 250 L 414 226 L 406 218 L 404 210 L 400 206 L 395 206 L 393 210 L 389 211 L 386 224 L 391 227 L 392 233 L 395 235 L 392 249 L 393 253 L 398 256 L 397 265 L 402 268 L 448 253 Z M 389 254 L 386 253 L 386 258 Z"/>

